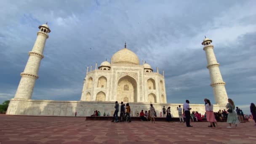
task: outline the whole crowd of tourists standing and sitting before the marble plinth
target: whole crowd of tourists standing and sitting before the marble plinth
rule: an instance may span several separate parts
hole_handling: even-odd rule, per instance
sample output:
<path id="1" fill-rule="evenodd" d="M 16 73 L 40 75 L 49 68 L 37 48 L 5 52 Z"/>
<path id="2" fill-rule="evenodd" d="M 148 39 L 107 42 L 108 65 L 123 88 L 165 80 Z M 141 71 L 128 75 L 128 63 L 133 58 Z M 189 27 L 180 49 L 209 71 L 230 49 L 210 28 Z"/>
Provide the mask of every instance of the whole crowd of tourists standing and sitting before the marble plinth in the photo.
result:
<path id="1" fill-rule="evenodd" d="M 226 109 L 219 110 L 218 112 L 213 112 L 213 104 L 211 104 L 211 101 L 209 99 L 204 99 L 205 101 L 205 113 L 202 115 L 201 113 L 197 111 L 192 111 L 190 113 L 191 108 L 189 107 L 189 100 L 186 100 L 186 103 L 183 104 L 183 109 L 181 108 L 181 105 L 177 107 L 177 112 L 179 115 L 179 121 L 180 123 L 185 123 L 184 119 L 186 120 L 187 127 L 192 127 L 190 125 L 190 122 L 202 122 L 205 118 L 208 122 L 210 122 L 210 125 L 208 127 L 218 127 L 218 122 L 222 122 L 224 119 L 227 120 L 227 123 L 229 123 L 229 126 L 227 128 L 232 128 L 232 124 L 237 127 L 237 124 L 239 123 L 245 123 L 244 118 L 253 118 L 253 120 L 256 123 L 256 107 L 253 103 L 251 103 L 250 110 L 251 115 L 244 115 L 243 110 L 239 107 L 235 107 L 234 102 L 232 99 L 228 99 L 228 103 L 226 105 Z M 119 112 L 119 104 L 116 101 L 115 102 L 115 112 L 113 115 L 112 122 L 131 122 L 131 107 L 129 106 L 129 103 L 126 105 L 123 104 L 123 101 L 121 102 L 120 106 L 120 121 L 118 119 L 118 112 Z M 163 112 L 163 113 L 162 113 Z M 168 107 L 165 109 L 165 106 L 163 106 L 163 111 L 160 112 L 160 117 L 166 117 L 167 122 L 173 121 L 173 116 L 171 114 L 171 107 Z M 75 113 L 75 116 L 77 113 Z M 91 116 L 101 116 L 101 113 L 99 111 L 94 111 L 94 114 Z M 103 116 L 109 116 L 109 113 L 104 112 Z M 141 121 L 151 121 L 152 123 L 155 123 L 155 117 L 157 117 L 157 112 L 155 111 L 155 108 L 153 107 L 153 104 L 150 104 L 149 110 L 144 111 L 143 109 L 141 112 L 136 114 L 137 117 L 140 117 Z"/>

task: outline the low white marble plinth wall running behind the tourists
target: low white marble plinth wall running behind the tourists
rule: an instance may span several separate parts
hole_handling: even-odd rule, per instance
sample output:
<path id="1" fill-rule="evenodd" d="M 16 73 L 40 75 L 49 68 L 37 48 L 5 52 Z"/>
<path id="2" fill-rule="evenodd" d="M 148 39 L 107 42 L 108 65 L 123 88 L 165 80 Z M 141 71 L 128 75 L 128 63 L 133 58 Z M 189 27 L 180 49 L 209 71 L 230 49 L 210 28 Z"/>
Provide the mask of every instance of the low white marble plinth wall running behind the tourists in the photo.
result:
<path id="1" fill-rule="evenodd" d="M 149 110 L 149 103 L 129 103 L 131 106 L 131 114 L 141 112 L 141 109 Z M 157 115 L 165 108 L 171 107 L 171 114 L 178 117 L 176 107 L 183 104 L 154 104 Z M 11 99 L 8 107 L 7 115 L 54 115 L 54 116 L 91 116 L 95 110 L 101 112 L 109 112 L 112 115 L 115 111 L 115 102 L 109 101 L 51 101 L 51 100 L 25 100 Z M 190 104 L 192 111 L 198 111 L 201 114 L 205 113 L 204 104 Z M 225 109 L 224 105 L 214 105 L 214 111 Z"/>

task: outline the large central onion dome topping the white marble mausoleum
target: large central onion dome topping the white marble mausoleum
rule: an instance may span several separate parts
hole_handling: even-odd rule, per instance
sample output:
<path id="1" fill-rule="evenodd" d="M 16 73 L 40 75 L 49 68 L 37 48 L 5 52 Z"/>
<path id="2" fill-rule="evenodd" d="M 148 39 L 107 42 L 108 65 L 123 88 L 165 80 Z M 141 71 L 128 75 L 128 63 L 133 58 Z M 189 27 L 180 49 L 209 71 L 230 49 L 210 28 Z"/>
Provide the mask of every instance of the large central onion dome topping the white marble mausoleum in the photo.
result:
<path id="1" fill-rule="evenodd" d="M 127 48 L 117 51 L 112 56 L 113 64 L 139 64 L 138 56 Z"/>

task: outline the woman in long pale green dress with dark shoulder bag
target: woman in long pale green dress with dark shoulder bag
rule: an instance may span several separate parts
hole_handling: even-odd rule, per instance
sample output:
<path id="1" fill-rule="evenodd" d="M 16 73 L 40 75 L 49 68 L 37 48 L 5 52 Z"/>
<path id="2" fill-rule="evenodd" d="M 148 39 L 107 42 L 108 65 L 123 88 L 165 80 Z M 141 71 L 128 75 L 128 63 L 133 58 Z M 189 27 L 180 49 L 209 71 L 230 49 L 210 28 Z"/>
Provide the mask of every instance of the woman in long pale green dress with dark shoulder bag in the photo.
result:
<path id="1" fill-rule="evenodd" d="M 229 123 L 229 126 L 227 128 L 232 128 L 231 124 L 235 124 L 235 127 L 237 127 L 237 124 L 240 122 L 238 120 L 237 113 L 235 112 L 235 104 L 232 99 L 228 99 L 226 108 L 228 109 L 227 112 L 229 112 L 229 115 L 227 115 L 227 123 Z"/>

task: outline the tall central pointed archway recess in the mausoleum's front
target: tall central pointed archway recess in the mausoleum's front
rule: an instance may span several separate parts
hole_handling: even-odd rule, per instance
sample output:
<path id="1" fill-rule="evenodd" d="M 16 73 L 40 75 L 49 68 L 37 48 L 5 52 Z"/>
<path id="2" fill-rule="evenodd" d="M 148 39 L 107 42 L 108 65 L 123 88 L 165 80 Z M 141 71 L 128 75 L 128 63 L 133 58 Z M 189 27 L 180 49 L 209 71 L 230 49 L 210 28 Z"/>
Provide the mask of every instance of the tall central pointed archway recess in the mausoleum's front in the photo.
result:
<path id="1" fill-rule="evenodd" d="M 137 102 L 137 82 L 128 75 L 121 77 L 117 83 L 117 101 L 127 98 L 129 102 Z"/>

